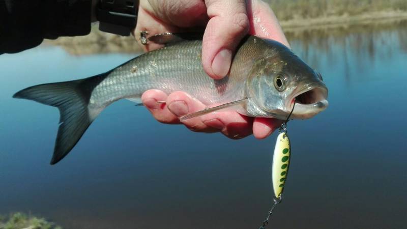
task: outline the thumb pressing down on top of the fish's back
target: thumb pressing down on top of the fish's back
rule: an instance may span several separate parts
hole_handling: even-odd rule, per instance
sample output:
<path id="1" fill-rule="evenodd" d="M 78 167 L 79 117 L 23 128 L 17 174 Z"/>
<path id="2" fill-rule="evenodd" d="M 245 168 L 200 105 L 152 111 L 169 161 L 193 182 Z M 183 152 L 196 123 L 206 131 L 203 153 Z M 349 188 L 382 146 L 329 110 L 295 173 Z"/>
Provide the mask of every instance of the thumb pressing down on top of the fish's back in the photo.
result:
<path id="1" fill-rule="evenodd" d="M 207 0 L 210 18 L 202 41 L 202 66 L 214 79 L 228 72 L 236 46 L 249 30 L 244 0 Z"/>

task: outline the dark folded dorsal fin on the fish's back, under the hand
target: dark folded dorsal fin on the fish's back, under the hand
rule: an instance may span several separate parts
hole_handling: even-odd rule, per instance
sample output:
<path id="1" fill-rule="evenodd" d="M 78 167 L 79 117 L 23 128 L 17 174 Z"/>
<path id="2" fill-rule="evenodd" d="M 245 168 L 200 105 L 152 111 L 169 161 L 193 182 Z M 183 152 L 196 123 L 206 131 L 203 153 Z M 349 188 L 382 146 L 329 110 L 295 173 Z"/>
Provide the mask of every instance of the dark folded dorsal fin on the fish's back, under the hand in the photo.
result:
<path id="1" fill-rule="evenodd" d="M 193 33 L 162 33 L 156 34 L 148 38 L 156 44 L 172 44 L 180 41 L 193 41 L 202 40 L 203 33 L 193 32 Z"/>

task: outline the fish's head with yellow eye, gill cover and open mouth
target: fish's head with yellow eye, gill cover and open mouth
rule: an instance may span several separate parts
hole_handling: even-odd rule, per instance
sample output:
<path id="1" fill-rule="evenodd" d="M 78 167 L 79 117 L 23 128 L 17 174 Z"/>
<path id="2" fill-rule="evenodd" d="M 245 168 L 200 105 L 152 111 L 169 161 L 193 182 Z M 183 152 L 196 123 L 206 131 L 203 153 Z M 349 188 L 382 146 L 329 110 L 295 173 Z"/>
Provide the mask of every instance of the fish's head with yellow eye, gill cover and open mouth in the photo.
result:
<path id="1" fill-rule="evenodd" d="M 281 120 L 293 106 L 291 119 L 312 118 L 328 106 L 328 89 L 321 74 L 286 47 L 282 53 L 276 55 L 274 50 L 256 61 L 246 81 L 246 94 L 249 107 L 260 114 L 257 116 Z"/>

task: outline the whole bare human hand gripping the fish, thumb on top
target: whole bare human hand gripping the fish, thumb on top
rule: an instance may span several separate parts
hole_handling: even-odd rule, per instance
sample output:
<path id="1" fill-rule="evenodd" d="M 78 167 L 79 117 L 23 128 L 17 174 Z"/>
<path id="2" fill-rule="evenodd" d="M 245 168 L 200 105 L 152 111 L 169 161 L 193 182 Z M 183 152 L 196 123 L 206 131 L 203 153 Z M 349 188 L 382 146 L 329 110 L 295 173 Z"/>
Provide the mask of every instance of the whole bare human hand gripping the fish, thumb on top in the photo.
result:
<path id="1" fill-rule="evenodd" d="M 273 11 L 259 0 L 249 0 L 247 3 L 240 0 L 141 0 L 134 34 L 141 31 L 148 31 L 151 35 L 185 32 L 191 27 L 205 25 L 202 66 L 214 79 L 228 73 L 232 54 L 247 33 L 289 46 Z M 161 45 L 151 43 L 143 47 L 149 51 Z M 144 92 L 141 99 L 154 118 L 170 124 L 179 124 L 180 117 L 206 108 L 183 92 L 167 96 L 162 91 L 149 90 Z M 166 101 L 166 104 L 157 104 L 156 101 Z M 256 138 L 265 138 L 281 123 L 275 119 L 245 117 L 233 111 L 213 112 L 183 122 L 193 131 L 222 132 L 235 139 L 252 133 Z"/>

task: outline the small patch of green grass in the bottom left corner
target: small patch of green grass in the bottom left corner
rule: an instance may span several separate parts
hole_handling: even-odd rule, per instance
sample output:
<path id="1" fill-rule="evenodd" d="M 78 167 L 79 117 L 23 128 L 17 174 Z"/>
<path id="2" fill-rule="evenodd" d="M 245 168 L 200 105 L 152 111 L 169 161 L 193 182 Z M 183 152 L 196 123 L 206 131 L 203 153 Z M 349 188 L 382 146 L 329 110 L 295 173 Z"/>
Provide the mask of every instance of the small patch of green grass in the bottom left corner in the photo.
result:
<path id="1" fill-rule="evenodd" d="M 8 217 L 0 216 L 0 229 L 62 229 L 44 218 L 37 218 L 21 212 L 10 214 Z"/>

